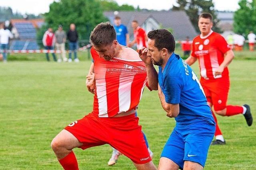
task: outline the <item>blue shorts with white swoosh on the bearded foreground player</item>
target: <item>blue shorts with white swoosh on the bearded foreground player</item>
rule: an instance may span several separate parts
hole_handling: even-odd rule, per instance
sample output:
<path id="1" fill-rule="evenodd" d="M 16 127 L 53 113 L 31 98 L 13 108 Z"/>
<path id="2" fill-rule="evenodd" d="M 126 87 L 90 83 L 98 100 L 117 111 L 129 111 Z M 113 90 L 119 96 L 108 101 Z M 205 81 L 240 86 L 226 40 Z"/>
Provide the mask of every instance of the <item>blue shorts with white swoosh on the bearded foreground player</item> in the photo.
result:
<path id="1" fill-rule="evenodd" d="M 182 127 L 176 125 L 161 157 L 166 157 L 183 169 L 184 161 L 197 162 L 204 167 L 208 149 L 215 132 L 215 125 L 205 121 Z"/>

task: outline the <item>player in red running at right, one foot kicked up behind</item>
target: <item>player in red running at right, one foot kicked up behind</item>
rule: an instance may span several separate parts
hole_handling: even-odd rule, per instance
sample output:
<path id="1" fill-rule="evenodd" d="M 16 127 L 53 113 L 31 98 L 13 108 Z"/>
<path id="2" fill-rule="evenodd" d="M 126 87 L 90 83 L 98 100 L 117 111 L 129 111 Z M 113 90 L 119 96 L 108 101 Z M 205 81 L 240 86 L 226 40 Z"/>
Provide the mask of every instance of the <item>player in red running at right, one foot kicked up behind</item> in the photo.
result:
<path id="1" fill-rule="evenodd" d="M 192 65 L 199 59 L 200 83 L 208 105 L 214 107 L 215 113 L 222 116 L 243 114 L 248 126 L 251 126 L 252 114 L 247 104 L 243 106 L 226 105 L 230 87 L 228 64 L 234 58 L 234 53 L 224 37 L 212 31 L 212 25 L 211 14 L 202 13 L 199 16 L 198 27 L 201 34 L 194 38 L 192 53 L 186 59 L 186 63 Z M 213 141 L 212 145 L 226 144 L 218 127 L 216 116 L 213 112 L 212 115 L 216 121 L 216 141 Z"/>

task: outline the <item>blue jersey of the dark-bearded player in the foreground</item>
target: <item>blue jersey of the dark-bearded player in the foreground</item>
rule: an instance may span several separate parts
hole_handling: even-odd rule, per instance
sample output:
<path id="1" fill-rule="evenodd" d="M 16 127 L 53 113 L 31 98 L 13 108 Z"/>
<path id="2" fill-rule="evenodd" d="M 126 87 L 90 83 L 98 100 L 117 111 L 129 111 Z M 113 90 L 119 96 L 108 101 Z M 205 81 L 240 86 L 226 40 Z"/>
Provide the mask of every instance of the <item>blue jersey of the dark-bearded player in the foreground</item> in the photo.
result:
<path id="1" fill-rule="evenodd" d="M 180 56 L 172 53 L 164 71 L 159 66 L 158 82 L 166 103 L 180 105 L 176 127 L 200 121 L 215 124 L 196 74 Z"/>

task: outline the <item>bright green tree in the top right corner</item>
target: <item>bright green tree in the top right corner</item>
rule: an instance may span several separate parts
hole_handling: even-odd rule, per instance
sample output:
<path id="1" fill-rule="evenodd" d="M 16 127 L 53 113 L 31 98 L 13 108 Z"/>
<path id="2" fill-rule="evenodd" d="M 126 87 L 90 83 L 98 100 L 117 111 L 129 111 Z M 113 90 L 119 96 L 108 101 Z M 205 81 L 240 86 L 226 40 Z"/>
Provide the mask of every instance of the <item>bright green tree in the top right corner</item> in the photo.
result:
<path id="1" fill-rule="evenodd" d="M 256 32 L 256 0 L 240 0 L 240 8 L 234 13 L 234 32 L 248 35 Z"/>

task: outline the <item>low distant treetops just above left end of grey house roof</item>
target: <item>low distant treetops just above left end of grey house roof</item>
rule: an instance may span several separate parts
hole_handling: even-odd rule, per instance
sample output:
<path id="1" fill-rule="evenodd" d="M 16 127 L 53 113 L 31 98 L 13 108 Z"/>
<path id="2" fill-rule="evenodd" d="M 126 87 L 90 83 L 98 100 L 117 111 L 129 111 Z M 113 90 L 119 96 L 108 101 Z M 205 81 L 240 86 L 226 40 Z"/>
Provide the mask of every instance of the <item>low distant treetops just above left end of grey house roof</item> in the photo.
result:
<path id="1" fill-rule="evenodd" d="M 131 5 L 123 4 L 121 6 L 114 0 L 98 0 L 104 11 L 134 11 Z"/>

